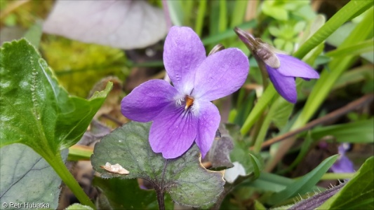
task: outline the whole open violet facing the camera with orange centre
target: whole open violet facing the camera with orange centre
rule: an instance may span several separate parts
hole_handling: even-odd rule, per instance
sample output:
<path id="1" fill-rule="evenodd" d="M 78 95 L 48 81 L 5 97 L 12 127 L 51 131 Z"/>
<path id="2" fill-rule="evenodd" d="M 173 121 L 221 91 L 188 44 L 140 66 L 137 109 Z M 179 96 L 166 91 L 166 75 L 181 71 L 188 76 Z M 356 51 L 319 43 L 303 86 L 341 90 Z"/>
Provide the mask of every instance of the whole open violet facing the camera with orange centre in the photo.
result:
<path id="1" fill-rule="evenodd" d="M 199 36 L 188 27 L 172 27 L 166 36 L 163 63 L 173 85 L 149 80 L 121 102 L 124 116 L 152 121 L 149 144 L 163 158 L 177 158 L 194 142 L 206 155 L 220 123 L 211 103 L 232 94 L 248 75 L 248 58 L 229 48 L 206 57 Z"/>

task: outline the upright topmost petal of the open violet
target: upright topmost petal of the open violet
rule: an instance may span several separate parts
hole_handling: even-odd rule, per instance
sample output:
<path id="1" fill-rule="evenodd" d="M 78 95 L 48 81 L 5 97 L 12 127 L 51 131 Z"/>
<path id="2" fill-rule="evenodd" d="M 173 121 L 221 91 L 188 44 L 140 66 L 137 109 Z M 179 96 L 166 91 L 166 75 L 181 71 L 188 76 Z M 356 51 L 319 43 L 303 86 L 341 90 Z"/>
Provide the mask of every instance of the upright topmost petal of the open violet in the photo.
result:
<path id="1" fill-rule="evenodd" d="M 197 67 L 206 59 L 199 36 L 189 27 L 171 27 L 163 46 L 163 64 L 180 92 L 191 92 Z"/>

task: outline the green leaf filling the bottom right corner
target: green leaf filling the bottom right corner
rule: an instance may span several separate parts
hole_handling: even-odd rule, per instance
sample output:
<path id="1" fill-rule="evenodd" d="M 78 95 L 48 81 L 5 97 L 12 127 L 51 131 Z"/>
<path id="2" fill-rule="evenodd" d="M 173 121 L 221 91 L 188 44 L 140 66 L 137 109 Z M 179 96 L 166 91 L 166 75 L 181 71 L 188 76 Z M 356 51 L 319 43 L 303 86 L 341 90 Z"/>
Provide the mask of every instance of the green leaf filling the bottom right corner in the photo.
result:
<path id="1" fill-rule="evenodd" d="M 368 158 L 354 177 L 318 209 L 374 209 L 374 157 Z"/>

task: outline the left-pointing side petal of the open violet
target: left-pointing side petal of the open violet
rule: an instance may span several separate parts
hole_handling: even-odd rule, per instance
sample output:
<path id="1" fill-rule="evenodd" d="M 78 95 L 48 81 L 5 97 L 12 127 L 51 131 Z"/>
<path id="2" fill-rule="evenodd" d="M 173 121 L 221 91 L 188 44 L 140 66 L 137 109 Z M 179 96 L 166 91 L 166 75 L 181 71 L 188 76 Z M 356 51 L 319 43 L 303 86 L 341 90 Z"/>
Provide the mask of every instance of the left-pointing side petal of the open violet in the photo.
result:
<path id="1" fill-rule="evenodd" d="M 138 122 L 153 120 L 173 102 L 178 91 L 165 80 L 149 80 L 122 99 L 123 116 Z"/>

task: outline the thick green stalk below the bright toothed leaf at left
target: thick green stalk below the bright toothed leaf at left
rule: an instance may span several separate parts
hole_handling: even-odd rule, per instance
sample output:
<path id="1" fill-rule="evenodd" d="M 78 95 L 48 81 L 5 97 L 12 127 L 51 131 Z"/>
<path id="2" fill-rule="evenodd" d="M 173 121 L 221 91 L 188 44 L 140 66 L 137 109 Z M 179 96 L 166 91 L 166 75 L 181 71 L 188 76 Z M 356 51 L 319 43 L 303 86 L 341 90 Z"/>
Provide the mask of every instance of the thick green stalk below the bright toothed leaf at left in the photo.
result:
<path id="1" fill-rule="evenodd" d="M 79 186 L 79 183 L 76 181 L 76 179 L 74 179 L 74 176 L 65 166 L 60 153 L 55 156 L 46 154 L 43 154 L 41 156 L 43 156 L 43 158 L 46 159 L 49 165 L 53 167 L 58 176 L 60 176 L 62 181 L 69 187 L 70 190 L 72 190 L 81 204 L 96 209 L 95 204 L 91 202 L 90 198 L 86 195 L 86 193 L 84 193 L 84 190 L 81 188 L 81 186 Z"/>

